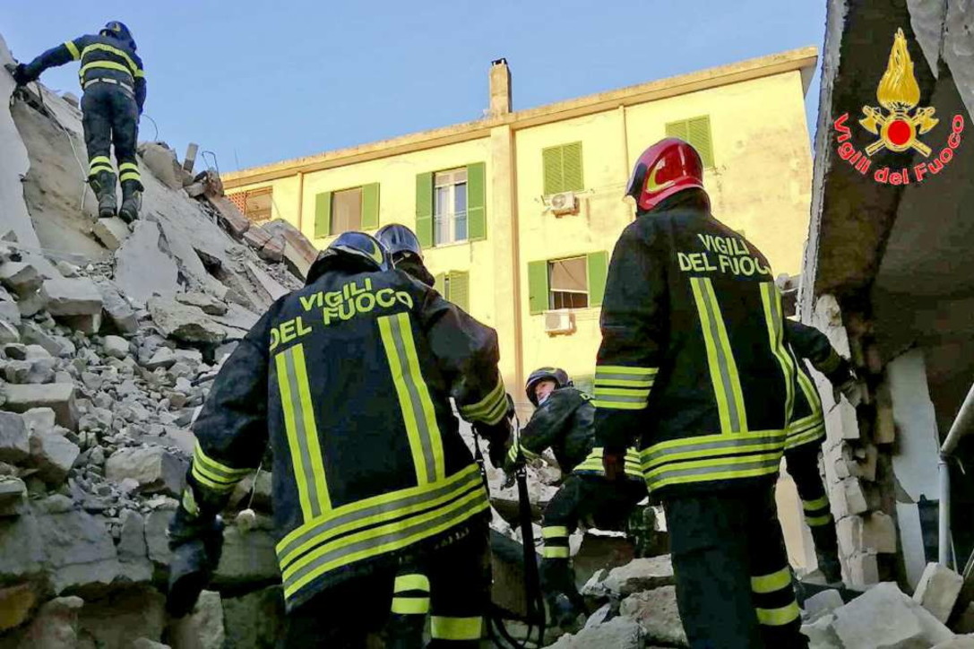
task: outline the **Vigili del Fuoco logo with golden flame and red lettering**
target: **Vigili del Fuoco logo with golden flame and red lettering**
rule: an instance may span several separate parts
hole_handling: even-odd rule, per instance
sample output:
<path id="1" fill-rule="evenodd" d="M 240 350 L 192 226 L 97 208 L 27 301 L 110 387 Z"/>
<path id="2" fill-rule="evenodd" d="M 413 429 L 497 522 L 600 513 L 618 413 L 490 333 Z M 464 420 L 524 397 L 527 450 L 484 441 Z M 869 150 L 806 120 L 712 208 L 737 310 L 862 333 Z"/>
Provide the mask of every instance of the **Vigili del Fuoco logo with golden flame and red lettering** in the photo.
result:
<path id="1" fill-rule="evenodd" d="M 866 175 L 873 165 L 872 156 L 884 149 L 907 154 L 916 151 L 927 159 L 912 168 L 882 167 L 875 170 L 873 179 L 882 184 L 908 185 L 911 182 L 923 182 L 928 177 L 944 171 L 944 168 L 954 159 L 955 149 L 960 146 L 964 118 L 956 114 L 951 119 L 951 133 L 947 137 L 947 143 L 937 152 L 920 139 L 922 135 L 937 126 L 940 120 L 934 117 L 935 108 L 919 106 L 919 86 L 903 29 L 897 29 L 893 37 L 893 48 L 889 52 L 886 71 L 876 89 L 876 98 L 880 105 L 863 106 L 859 125 L 877 139 L 867 145 L 865 150 L 857 149 L 849 141 L 852 138 L 851 129 L 847 125 L 849 114 L 844 113 L 834 123 L 836 132 L 839 134 L 837 138 L 839 157 L 863 175 Z"/>

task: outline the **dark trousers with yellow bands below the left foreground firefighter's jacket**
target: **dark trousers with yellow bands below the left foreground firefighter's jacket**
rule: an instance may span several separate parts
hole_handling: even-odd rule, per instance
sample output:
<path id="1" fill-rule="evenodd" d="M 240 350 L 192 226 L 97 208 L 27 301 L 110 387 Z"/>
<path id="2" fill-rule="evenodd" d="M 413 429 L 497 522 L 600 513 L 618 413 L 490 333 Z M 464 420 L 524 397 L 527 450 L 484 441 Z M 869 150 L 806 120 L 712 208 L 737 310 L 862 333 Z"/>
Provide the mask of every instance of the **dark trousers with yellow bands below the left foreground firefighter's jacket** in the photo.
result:
<path id="1" fill-rule="evenodd" d="M 387 649 L 423 647 L 428 614 L 437 649 L 480 646 L 490 606 L 486 526 L 447 537 L 422 555 L 319 593 L 287 615 L 279 649 L 366 646 L 369 633 Z"/>

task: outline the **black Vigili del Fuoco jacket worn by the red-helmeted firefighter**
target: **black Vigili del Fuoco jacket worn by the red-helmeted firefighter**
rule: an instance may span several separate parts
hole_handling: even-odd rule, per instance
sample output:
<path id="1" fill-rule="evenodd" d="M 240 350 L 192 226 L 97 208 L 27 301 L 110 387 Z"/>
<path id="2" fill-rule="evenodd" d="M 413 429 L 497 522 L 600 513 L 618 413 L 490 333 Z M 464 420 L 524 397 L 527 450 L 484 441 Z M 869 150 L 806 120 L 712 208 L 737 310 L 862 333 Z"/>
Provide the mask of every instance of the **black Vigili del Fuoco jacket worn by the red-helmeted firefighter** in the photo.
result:
<path id="1" fill-rule="evenodd" d="M 596 444 L 639 439 L 658 496 L 773 481 L 795 363 L 765 256 L 685 191 L 622 232 L 594 380 Z"/>

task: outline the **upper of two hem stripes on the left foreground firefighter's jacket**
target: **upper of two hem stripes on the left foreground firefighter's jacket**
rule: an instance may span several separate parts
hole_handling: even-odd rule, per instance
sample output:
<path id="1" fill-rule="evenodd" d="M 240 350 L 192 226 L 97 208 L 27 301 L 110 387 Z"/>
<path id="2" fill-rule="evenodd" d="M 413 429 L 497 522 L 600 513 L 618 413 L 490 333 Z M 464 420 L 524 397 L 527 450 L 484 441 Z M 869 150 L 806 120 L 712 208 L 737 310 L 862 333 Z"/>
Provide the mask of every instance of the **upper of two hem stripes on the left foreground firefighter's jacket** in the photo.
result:
<path id="1" fill-rule="evenodd" d="M 293 554 L 301 546 L 315 541 L 315 538 L 319 535 L 323 535 L 322 539 L 308 548 L 308 550 L 317 547 L 320 543 L 326 542 L 330 536 L 334 535 L 329 535 L 329 532 L 337 530 L 340 527 L 352 525 L 356 522 L 361 523 L 358 527 L 364 527 L 390 518 L 390 515 L 393 513 L 419 508 L 443 496 L 449 494 L 459 495 L 467 491 L 471 486 L 480 483 L 481 477 L 479 470 L 476 465 L 471 464 L 462 472 L 447 478 L 443 482 L 429 485 L 433 488 L 428 488 L 418 493 L 411 493 L 393 500 L 381 501 L 373 505 L 369 505 L 367 502 L 356 503 L 353 506 L 346 506 L 349 509 L 345 511 L 341 509 L 335 510 L 332 515 L 325 516 L 320 520 L 310 521 L 303 528 L 298 528 L 298 530 L 303 531 L 295 530 L 298 531 L 297 536 L 292 532 L 281 541 L 277 549 L 278 559 L 281 561 L 281 568 L 286 567 L 287 564 L 296 558 L 296 556 L 289 556 L 290 554 Z M 353 527 L 353 529 L 355 528 Z"/>

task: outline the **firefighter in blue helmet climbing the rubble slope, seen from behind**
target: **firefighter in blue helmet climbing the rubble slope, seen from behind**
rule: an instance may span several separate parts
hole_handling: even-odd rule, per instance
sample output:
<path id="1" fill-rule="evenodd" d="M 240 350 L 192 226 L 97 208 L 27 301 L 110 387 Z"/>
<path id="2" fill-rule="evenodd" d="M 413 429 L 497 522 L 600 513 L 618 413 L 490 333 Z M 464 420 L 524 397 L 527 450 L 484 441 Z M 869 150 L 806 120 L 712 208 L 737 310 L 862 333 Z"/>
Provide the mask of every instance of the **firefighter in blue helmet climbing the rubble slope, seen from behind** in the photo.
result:
<path id="1" fill-rule="evenodd" d="M 19 63 L 14 80 L 30 83 L 49 67 L 81 61 L 78 73 L 84 95 L 81 111 L 88 147 L 88 180 L 98 199 L 98 216 L 115 215 L 115 171 L 108 157 L 115 145 L 122 207 L 118 215 L 130 222 L 138 217 L 142 180 L 135 158 L 138 120 L 145 103 L 145 71 L 135 54 L 129 27 L 112 20 L 97 34 L 80 36 L 48 50 L 29 63 Z"/>

